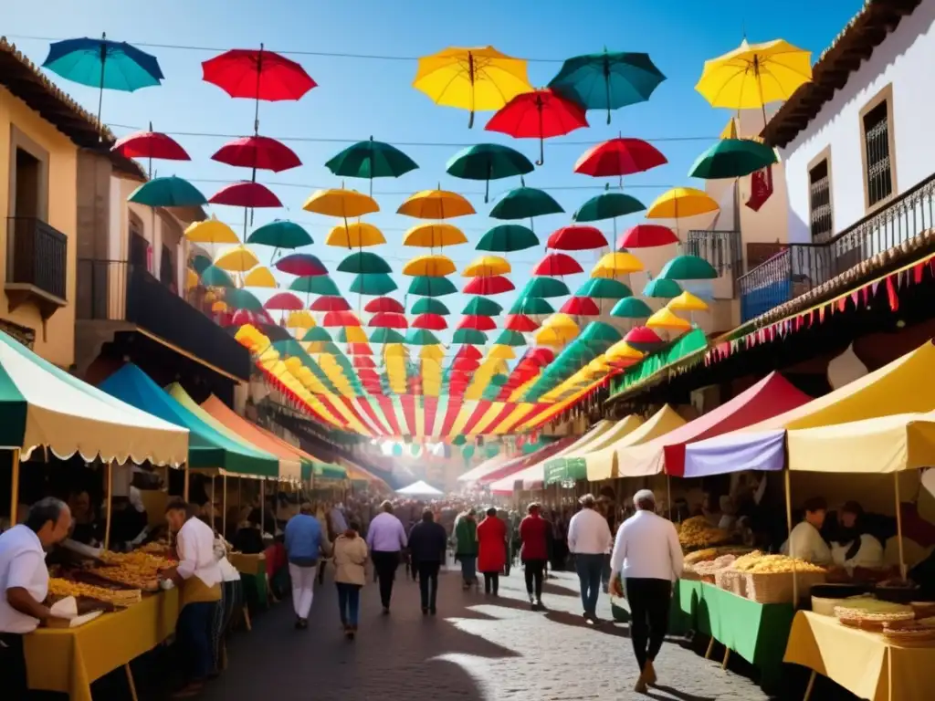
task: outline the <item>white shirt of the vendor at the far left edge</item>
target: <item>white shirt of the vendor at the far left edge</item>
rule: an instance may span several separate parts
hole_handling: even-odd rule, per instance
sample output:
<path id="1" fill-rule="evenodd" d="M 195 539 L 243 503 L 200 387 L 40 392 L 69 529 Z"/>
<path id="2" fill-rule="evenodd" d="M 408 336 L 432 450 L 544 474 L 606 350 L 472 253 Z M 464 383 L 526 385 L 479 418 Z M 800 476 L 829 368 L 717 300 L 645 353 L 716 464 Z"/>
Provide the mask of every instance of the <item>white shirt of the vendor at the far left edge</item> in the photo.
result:
<path id="1" fill-rule="evenodd" d="M 0 633 L 32 633 L 39 620 L 7 603 L 7 589 L 22 587 L 37 603 L 49 595 L 49 570 L 39 536 L 24 525 L 0 535 Z"/>

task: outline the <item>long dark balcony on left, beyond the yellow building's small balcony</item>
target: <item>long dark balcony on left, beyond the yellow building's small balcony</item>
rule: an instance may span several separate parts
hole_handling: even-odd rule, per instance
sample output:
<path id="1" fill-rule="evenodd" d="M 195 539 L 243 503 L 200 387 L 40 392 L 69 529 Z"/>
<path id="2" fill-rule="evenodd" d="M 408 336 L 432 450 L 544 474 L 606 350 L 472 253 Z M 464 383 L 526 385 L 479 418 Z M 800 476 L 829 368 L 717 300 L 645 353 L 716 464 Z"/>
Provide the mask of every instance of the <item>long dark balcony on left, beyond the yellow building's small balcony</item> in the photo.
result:
<path id="1" fill-rule="evenodd" d="M 79 322 L 137 326 L 183 354 L 238 379 L 250 378 L 250 353 L 148 270 L 126 261 L 79 259 Z"/>

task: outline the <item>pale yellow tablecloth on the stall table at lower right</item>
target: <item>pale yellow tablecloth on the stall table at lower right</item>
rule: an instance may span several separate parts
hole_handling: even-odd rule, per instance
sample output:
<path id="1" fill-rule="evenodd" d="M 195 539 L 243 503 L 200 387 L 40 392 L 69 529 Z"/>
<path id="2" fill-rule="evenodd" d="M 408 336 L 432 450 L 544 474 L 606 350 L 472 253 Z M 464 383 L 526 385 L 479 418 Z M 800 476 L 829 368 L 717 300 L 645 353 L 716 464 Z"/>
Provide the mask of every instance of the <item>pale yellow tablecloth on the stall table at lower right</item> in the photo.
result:
<path id="1" fill-rule="evenodd" d="M 935 646 L 896 645 L 812 611 L 793 619 L 784 662 L 813 669 L 870 701 L 928 701 L 935 689 Z"/>

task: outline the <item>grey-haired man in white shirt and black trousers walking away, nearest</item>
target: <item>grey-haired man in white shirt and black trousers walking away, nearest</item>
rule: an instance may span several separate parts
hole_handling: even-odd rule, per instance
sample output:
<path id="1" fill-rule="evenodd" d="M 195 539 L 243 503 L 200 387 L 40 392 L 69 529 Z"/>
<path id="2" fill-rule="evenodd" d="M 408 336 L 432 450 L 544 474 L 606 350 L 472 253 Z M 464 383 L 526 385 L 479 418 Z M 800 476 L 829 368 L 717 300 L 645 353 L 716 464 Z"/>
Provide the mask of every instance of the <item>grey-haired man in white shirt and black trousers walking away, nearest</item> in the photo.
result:
<path id="1" fill-rule="evenodd" d="M 682 576 L 683 558 L 675 526 L 655 514 L 654 494 L 640 490 L 633 506 L 636 514 L 620 526 L 613 544 L 611 594 L 626 591 L 630 639 L 640 666 L 636 691 L 645 694 L 656 681 L 653 663 L 669 628 L 672 582 Z"/>

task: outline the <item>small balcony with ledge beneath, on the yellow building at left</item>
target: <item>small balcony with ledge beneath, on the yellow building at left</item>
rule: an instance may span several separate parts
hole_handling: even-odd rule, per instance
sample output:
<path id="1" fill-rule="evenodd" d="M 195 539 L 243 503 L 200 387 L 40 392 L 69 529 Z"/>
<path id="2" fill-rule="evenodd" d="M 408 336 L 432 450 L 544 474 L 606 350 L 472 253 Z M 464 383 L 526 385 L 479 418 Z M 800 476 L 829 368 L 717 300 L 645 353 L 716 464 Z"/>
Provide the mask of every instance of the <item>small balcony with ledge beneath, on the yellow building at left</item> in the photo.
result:
<path id="1" fill-rule="evenodd" d="M 43 319 L 65 307 L 68 237 L 35 217 L 7 218 L 9 309 L 34 304 Z"/>

